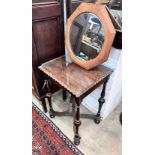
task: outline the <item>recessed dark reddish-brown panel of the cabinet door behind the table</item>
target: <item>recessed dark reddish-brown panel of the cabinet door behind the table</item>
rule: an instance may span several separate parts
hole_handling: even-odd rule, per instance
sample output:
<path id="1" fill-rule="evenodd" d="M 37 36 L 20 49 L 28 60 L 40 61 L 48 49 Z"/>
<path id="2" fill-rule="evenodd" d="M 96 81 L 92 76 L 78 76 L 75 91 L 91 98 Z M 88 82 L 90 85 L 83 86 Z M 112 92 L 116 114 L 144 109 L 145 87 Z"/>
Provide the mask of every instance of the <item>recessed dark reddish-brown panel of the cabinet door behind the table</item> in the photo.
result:
<path id="1" fill-rule="evenodd" d="M 38 65 L 61 55 L 59 18 L 48 19 L 33 24 Z"/>

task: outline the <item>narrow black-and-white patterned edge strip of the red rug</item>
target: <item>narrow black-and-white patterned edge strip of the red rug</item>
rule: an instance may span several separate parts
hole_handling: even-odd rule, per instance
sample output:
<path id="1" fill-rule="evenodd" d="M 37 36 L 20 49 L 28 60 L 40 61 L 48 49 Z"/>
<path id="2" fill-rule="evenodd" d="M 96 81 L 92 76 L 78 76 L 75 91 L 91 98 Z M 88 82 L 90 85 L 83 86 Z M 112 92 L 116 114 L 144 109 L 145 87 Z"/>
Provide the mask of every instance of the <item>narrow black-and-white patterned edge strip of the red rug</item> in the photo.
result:
<path id="1" fill-rule="evenodd" d="M 51 129 L 60 137 L 60 133 L 63 135 L 60 137 L 62 141 L 68 146 L 71 151 L 75 153 L 75 155 L 84 155 L 76 146 L 75 144 L 61 131 L 61 129 L 54 123 L 52 120 L 46 116 L 42 110 L 32 102 L 32 108 L 36 110 L 36 112 L 48 123 Z M 54 126 L 54 128 L 53 128 Z M 67 142 L 68 141 L 68 142 Z"/>

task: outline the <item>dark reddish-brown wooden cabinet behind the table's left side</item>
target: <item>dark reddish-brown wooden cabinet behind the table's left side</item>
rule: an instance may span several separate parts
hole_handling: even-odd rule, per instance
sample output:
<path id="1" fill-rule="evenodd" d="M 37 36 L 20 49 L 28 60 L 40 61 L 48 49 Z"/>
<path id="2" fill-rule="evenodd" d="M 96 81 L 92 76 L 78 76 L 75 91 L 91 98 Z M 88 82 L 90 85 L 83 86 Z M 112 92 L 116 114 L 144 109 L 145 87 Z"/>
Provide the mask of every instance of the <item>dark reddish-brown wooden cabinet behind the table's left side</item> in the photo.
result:
<path id="1" fill-rule="evenodd" d="M 42 63 L 63 55 L 63 5 L 57 0 L 33 0 L 32 3 L 32 88 L 41 99 L 47 77 L 38 69 Z M 59 88 L 52 83 L 52 93 Z"/>

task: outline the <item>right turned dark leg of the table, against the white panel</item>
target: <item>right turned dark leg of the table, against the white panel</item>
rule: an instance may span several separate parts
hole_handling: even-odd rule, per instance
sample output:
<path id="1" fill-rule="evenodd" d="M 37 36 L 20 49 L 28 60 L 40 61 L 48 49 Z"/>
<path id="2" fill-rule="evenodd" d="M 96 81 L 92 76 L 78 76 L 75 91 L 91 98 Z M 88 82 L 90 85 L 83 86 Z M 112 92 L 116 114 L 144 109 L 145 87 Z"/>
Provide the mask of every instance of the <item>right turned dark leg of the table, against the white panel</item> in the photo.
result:
<path id="1" fill-rule="evenodd" d="M 108 77 L 107 77 L 107 79 L 105 80 L 105 82 L 103 84 L 101 96 L 100 96 L 100 98 L 98 100 L 98 102 L 99 102 L 99 108 L 98 108 L 98 112 L 96 114 L 96 118 L 94 120 L 96 124 L 99 124 L 100 121 L 101 121 L 101 109 L 102 109 L 102 106 L 103 106 L 103 104 L 105 102 L 104 96 L 105 96 L 105 88 L 106 88 L 107 81 L 108 81 Z"/>

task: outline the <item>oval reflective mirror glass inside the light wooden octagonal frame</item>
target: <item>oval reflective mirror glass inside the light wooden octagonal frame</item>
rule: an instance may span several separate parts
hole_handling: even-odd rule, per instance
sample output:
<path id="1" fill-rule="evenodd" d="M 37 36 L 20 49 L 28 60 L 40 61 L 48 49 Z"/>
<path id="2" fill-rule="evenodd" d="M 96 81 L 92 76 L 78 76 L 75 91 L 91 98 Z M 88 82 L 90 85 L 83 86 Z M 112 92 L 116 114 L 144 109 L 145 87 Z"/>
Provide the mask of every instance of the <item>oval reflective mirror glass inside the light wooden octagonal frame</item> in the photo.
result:
<path id="1" fill-rule="evenodd" d="M 92 13 L 75 18 L 70 30 L 70 44 L 76 57 L 88 61 L 97 57 L 104 42 L 104 29 L 100 19 Z"/>

